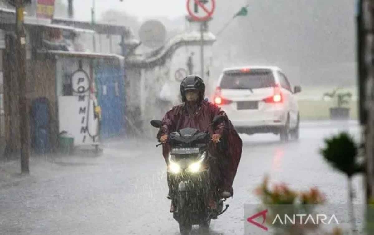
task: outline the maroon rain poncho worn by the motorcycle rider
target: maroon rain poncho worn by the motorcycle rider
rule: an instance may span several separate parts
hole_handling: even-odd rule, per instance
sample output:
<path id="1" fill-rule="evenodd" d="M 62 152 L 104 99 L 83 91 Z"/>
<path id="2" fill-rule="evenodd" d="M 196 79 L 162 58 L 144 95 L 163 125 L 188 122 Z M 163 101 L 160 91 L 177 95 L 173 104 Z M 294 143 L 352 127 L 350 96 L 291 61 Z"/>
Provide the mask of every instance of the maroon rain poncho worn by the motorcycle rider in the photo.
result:
<path id="1" fill-rule="evenodd" d="M 224 191 L 231 192 L 233 195 L 232 184 L 242 155 L 243 142 L 226 113 L 222 111 L 220 107 L 213 103 L 202 101 L 197 108 L 197 111 L 191 116 L 188 114 L 186 103 L 174 106 L 162 119 L 164 125 L 160 128 L 160 131 L 157 134 L 157 139 L 160 139 L 164 134 L 175 132 L 186 127 L 205 131 L 209 124 L 211 124 L 213 118 L 217 115 L 225 116 L 226 120 L 223 123 L 218 124 L 215 129 L 210 126 L 208 131 L 211 134 L 221 134 L 221 136 L 227 140 L 227 148 L 219 151 L 215 147 L 216 145 L 211 143 L 209 145 L 209 151 L 212 155 L 220 156 L 218 161 L 225 161 L 225 163 L 227 163 L 222 169 L 225 172 L 223 172 L 224 179 L 221 188 L 223 188 Z M 166 162 L 169 152 L 170 146 L 167 144 L 163 145 L 162 154 Z"/>

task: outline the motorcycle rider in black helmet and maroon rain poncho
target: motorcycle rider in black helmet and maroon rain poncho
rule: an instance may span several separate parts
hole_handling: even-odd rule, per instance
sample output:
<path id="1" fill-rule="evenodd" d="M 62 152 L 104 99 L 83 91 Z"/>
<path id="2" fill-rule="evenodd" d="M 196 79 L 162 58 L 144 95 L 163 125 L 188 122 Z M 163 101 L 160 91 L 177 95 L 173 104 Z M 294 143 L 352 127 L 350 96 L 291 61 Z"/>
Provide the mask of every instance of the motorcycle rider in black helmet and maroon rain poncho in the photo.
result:
<path id="1" fill-rule="evenodd" d="M 182 81 L 180 85 L 182 104 L 174 106 L 169 110 L 162 119 L 163 126 L 157 134 L 160 142 L 168 140 L 168 134 L 177 130 L 191 127 L 199 131 L 205 131 L 213 118 L 217 115 L 223 115 L 225 120 L 217 124 L 215 127 L 208 128 L 212 133 L 212 144 L 209 144 L 209 152 L 215 159 L 210 163 L 215 183 L 218 185 L 218 191 L 222 198 L 233 196 L 232 183 L 239 165 L 242 154 L 242 140 L 234 129 L 231 121 L 226 113 L 217 105 L 206 101 L 205 84 L 203 80 L 196 75 L 189 75 Z M 221 139 L 226 143 L 225 148 L 218 148 L 217 143 Z M 170 151 L 169 145 L 163 145 L 163 156 L 168 163 L 168 155 Z M 168 176 L 169 194 L 171 199 L 171 185 Z M 211 198 L 209 207 L 214 209 L 217 207 Z M 174 210 L 171 205 L 171 212 Z"/>

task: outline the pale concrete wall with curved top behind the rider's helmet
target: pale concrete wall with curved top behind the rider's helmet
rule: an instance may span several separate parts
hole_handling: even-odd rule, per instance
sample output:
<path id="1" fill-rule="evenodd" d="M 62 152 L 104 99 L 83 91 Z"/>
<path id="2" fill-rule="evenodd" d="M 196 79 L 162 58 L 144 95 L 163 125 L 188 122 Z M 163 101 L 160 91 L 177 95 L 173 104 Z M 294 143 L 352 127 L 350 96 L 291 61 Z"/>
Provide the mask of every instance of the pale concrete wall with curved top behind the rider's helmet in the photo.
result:
<path id="1" fill-rule="evenodd" d="M 178 48 L 175 53 L 168 58 L 166 63 L 162 66 L 141 69 L 138 86 L 140 90 L 135 93 L 138 94 L 142 130 L 145 136 L 153 136 L 157 129 L 151 127 L 150 121 L 152 119 L 162 119 L 165 113 L 174 105 L 181 103 L 180 98 L 180 81 L 175 79 L 175 72 L 179 68 L 187 68 L 187 58 L 194 52 L 193 73 L 200 75 L 200 47 L 199 46 L 183 46 Z M 212 47 L 205 46 L 205 72 L 213 66 Z M 207 90 L 209 91 L 209 83 L 211 77 L 204 75 L 204 80 L 208 83 Z M 134 81 L 133 81 L 134 82 Z M 207 92 L 208 93 L 208 92 Z M 208 96 L 207 96 L 208 97 Z"/>

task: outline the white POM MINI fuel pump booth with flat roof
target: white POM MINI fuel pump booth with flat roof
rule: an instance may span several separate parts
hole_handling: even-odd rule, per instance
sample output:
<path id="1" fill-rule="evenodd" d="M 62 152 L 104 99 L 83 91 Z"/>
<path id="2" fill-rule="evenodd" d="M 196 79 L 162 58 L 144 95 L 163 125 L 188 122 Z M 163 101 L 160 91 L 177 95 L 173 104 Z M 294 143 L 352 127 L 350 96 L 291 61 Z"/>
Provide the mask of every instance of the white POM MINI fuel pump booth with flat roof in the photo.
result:
<path id="1" fill-rule="evenodd" d="M 107 84 L 102 84 L 102 79 L 105 75 L 110 76 L 107 74 L 111 71 L 108 67 L 123 71 L 121 69 L 123 58 L 109 54 L 64 51 L 48 51 L 47 54 L 52 55 L 56 63 L 56 101 L 60 145 L 66 144 L 67 139 L 71 138 L 74 146 L 95 146 L 97 151 L 102 131 L 100 130 L 101 103 L 106 107 L 105 99 L 101 99 L 100 103 L 98 95 L 104 93 L 103 89 L 105 93 L 108 93 Z M 119 79 L 119 82 L 121 81 L 123 77 Z M 116 117 L 116 120 L 120 120 L 121 125 L 123 90 L 120 84 L 122 83 L 117 83 L 116 93 L 121 102 L 115 103 L 116 107 L 113 109 L 119 112 L 121 117 Z M 103 111 L 109 113 L 109 117 L 107 114 L 104 115 L 106 123 L 107 119 L 111 118 L 111 110 L 104 109 Z M 111 119 L 109 121 L 113 122 L 113 117 Z M 117 130 L 122 130 L 122 126 L 117 126 Z"/>

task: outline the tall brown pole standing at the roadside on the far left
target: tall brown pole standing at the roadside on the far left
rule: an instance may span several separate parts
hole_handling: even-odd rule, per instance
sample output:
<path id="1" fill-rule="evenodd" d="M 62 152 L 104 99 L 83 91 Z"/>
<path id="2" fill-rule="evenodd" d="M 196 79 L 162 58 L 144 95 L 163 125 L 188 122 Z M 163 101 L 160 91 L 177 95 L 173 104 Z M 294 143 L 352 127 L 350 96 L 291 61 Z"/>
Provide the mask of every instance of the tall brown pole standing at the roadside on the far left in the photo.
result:
<path id="1" fill-rule="evenodd" d="M 16 60 L 19 84 L 19 135 L 21 141 L 21 173 L 29 174 L 30 120 L 26 98 L 26 37 L 24 29 L 24 0 L 16 0 Z"/>

